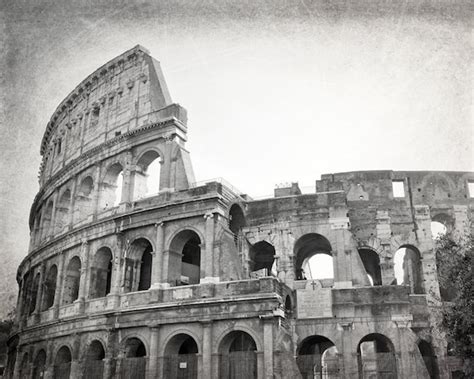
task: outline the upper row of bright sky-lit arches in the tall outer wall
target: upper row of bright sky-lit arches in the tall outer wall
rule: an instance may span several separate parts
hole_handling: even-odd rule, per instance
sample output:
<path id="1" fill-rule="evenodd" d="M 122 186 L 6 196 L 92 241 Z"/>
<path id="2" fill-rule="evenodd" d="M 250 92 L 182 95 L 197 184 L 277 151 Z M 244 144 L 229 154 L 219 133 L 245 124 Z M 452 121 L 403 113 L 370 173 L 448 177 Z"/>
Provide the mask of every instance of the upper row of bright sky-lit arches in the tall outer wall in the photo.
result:
<path id="1" fill-rule="evenodd" d="M 131 173 L 131 180 L 124 181 L 124 165 L 110 164 L 105 169 L 99 183 L 92 174 L 86 174 L 73 186 L 64 188 L 57 200 L 50 198 L 40 208 L 34 225 L 35 241 L 60 233 L 66 227 L 118 206 L 123 201 L 140 200 L 153 196 L 160 190 L 162 159 L 155 150 L 148 150 L 140 156 Z M 124 196 L 124 194 L 127 194 Z"/>

